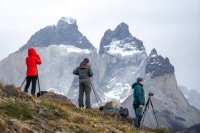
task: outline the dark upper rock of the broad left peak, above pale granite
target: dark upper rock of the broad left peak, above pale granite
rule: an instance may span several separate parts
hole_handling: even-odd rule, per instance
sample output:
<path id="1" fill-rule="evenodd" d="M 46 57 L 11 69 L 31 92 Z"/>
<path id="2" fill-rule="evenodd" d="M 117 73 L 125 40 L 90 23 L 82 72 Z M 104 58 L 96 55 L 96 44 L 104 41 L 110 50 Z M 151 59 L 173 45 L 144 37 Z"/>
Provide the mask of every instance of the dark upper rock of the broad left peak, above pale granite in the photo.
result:
<path id="1" fill-rule="evenodd" d="M 89 49 L 90 51 L 95 50 L 95 47 L 78 30 L 76 19 L 62 17 L 57 25 L 47 26 L 37 31 L 19 51 L 29 47 L 48 47 L 49 45 L 60 44 L 72 45 L 81 49 Z"/>

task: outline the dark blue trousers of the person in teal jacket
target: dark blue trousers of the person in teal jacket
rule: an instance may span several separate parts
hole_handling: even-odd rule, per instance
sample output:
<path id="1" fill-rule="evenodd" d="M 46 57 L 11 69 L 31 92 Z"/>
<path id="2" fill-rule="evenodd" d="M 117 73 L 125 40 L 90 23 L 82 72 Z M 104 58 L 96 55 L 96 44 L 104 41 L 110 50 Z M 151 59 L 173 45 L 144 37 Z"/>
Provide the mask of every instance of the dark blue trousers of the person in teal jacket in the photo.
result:
<path id="1" fill-rule="evenodd" d="M 135 110 L 135 128 L 140 128 L 140 123 L 142 120 L 142 109 L 143 108 L 139 108 L 139 105 L 137 104 L 133 104 L 133 108 Z"/>

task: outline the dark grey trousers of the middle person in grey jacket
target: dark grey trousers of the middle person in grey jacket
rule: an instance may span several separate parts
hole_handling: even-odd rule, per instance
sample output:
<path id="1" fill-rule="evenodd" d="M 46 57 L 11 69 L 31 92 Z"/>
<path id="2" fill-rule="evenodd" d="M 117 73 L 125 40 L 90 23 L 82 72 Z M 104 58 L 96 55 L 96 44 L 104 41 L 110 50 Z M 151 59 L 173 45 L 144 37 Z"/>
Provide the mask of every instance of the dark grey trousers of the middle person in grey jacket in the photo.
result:
<path id="1" fill-rule="evenodd" d="M 90 105 L 90 92 L 91 92 L 91 87 L 90 87 L 90 83 L 89 82 L 81 82 L 81 83 L 79 83 L 79 98 L 78 98 L 79 107 L 84 107 L 83 97 L 84 97 L 84 93 L 85 93 L 86 108 L 91 108 L 91 105 Z"/>

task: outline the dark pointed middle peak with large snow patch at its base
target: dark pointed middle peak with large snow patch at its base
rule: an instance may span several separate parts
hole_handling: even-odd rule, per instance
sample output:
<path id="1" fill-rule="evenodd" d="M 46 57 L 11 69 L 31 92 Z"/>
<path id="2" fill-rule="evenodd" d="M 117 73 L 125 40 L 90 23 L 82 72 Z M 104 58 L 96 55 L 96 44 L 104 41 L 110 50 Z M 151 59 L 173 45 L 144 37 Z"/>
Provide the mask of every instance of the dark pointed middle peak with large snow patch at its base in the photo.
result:
<path id="1" fill-rule="evenodd" d="M 128 25 L 122 22 L 117 25 L 114 31 L 108 29 L 104 33 L 100 42 L 99 53 L 129 56 L 144 49 L 142 41 L 133 37 L 129 32 Z"/>

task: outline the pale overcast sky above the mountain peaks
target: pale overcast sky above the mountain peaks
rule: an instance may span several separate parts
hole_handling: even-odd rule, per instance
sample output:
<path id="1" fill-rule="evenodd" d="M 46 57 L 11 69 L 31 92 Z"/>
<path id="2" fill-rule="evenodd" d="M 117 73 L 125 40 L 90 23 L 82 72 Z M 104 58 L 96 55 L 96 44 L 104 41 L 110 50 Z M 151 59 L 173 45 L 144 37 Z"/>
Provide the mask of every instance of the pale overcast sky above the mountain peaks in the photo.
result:
<path id="1" fill-rule="evenodd" d="M 179 85 L 200 92 L 200 0 L 0 0 L 0 60 L 63 16 L 96 48 L 125 22 L 148 55 L 156 48 L 169 58 Z"/>

